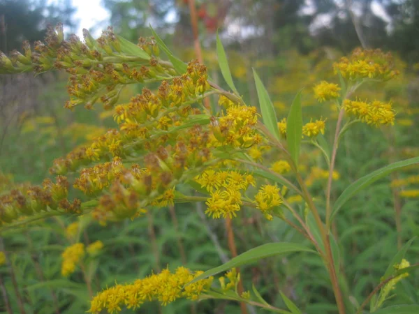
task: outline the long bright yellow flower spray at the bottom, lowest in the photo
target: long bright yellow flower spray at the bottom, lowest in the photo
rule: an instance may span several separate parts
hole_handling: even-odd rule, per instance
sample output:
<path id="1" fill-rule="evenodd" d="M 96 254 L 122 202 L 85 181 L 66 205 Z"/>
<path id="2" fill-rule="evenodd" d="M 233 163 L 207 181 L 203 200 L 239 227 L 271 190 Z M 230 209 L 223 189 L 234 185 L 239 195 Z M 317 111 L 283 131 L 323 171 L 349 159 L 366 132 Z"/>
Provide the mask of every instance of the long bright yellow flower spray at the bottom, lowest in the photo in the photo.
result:
<path id="1" fill-rule="evenodd" d="M 200 274 L 203 274 L 203 271 L 193 272 L 185 267 L 178 267 L 173 273 L 164 269 L 159 274 L 138 279 L 132 284 L 115 285 L 99 292 L 91 300 L 89 312 L 118 313 L 123 307 L 135 310 L 145 302 L 154 300 L 163 306 L 181 298 L 196 300 L 210 288 L 213 280 L 210 277 L 187 285 Z"/>

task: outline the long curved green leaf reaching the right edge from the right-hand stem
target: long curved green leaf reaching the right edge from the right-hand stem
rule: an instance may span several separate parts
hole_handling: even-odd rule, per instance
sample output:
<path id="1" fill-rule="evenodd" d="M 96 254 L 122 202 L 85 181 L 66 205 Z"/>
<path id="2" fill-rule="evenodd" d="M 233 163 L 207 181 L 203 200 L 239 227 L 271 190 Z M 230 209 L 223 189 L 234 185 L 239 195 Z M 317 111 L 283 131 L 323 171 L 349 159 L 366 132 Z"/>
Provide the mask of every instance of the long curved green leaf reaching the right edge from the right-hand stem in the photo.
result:
<path id="1" fill-rule="evenodd" d="M 288 132 L 288 130 L 287 130 Z M 288 135 L 287 135 L 288 137 Z M 363 190 L 364 188 L 367 188 L 367 186 L 370 186 L 378 179 L 381 179 L 382 177 L 385 177 L 386 175 L 390 174 L 393 171 L 399 170 L 402 167 L 406 167 L 408 165 L 415 165 L 419 163 L 419 157 L 410 158 L 402 161 L 397 161 L 396 163 L 391 163 L 390 165 L 387 165 L 385 167 L 382 167 L 381 169 L 375 170 L 374 172 L 371 172 L 370 174 L 367 174 L 365 177 L 362 177 L 358 179 L 357 181 L 353 182 L 350 186 L 348 186 L 343 193 L 338 197 L 338 199 L 335 202 L 335 205 L 333 206 L 332 214 L 330 216 L 330 221 L 335 217 L 337 214 L 337 211 L 341 209 L 341 207 L 351 198 L 353 195 L 360 192 L 360 190 Z"/>

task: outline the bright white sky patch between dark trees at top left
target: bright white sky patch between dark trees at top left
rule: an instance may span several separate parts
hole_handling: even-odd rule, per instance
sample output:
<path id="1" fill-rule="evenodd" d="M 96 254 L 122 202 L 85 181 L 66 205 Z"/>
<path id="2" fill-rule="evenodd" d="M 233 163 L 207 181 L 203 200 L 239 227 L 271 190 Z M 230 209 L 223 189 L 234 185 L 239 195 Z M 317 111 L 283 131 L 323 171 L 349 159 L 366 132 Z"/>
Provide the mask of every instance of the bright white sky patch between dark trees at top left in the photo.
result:
<path id="1" fill-rule="evenodd" d="M 103 28 L 108 26 L 110 13 L 103 8 L 101 0 L 71 0 L 73 7 L 77 9 L 73 18 L 78 22 L 75 34 L 83 38 L 82 29 L 91 29 L 92 36 L 101 35 Z M 59 0 L 48 0 L 48 3 L 59 3 Z M 64 29 L 64 31 L 68 31 Z"/>

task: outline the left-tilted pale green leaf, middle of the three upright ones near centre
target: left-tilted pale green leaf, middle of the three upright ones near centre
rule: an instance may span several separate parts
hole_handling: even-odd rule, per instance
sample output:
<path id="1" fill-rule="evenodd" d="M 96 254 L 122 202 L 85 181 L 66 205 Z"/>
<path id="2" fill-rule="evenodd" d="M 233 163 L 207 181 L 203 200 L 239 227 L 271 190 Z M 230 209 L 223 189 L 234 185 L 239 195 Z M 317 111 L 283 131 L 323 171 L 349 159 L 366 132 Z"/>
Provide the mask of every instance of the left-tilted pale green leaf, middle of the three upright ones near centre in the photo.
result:
<path id="1" fill-rule="evenodd" d="M 258 77 L 258 73 L 253 69 L 253 76 L 255 77 L 256 91 L 258 91 L 260 111 L 262 112 L 263 124 L 267 129 L 279 140 L 278 120 L 277 114 L 274 110 L 274 105 L 270 100 L 267 90 L 263 86 L 263 82 Z"/>

